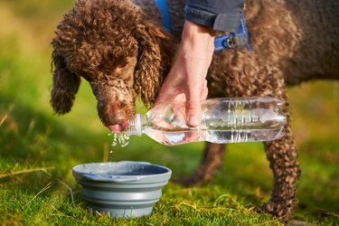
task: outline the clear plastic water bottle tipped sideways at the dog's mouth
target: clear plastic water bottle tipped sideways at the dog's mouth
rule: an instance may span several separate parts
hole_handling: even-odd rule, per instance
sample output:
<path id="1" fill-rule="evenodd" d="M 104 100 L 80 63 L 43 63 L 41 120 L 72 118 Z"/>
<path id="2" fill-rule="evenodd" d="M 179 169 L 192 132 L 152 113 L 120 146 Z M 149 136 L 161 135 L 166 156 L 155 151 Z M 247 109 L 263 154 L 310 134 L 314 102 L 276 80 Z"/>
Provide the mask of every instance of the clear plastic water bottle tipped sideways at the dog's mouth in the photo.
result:
<path id="1" fill-rule="evenodd" d="M 271 97 L 207 99 L 202 102 L 201 125 L 188 127 L 184 102 L 164 103 L 132 118 L 127 133 L 146 134 L 168 146 L 269 141 L 284 134 L 287 118 L 283 111 L 284 102 Z"/>

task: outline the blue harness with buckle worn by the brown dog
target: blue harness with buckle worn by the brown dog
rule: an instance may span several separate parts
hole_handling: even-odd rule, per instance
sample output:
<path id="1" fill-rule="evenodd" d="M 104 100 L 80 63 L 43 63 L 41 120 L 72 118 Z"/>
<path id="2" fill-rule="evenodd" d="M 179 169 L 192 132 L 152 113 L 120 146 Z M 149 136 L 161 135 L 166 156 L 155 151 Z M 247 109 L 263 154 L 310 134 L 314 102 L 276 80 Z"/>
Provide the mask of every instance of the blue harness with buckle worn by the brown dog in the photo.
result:
<path id="1" fill-rule="evenodd" d="M 163 24 L 167 32 L 171 31 L 171 18 L 168 11 L 166 0 L 155 0 L 155 5 L 158 7 L 163 16 Z M 245 49 L 252 50 L 250 45 L 250 35 L 247 30 L 244 14 L 241 15 L 240 26 L 236 33 L 228 33 L 214 39 L 214 51 L 220 52 L 225 49 Z"/>

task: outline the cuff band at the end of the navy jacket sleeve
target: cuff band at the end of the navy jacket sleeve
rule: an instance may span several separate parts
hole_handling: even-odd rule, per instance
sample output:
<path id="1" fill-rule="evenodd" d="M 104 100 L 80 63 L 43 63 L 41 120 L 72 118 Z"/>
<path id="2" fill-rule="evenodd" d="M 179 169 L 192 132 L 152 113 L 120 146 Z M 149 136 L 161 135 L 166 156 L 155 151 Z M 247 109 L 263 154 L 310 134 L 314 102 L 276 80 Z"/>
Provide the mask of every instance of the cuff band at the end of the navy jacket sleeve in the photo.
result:
<path id="1" fill-rule="evenodd" d="M 187 5 L 184 12 L 186 20 L 195 24 L 210 26 L 217 31 L 235 33 L 239 29 L 241 13 L 211 14 Z"/>

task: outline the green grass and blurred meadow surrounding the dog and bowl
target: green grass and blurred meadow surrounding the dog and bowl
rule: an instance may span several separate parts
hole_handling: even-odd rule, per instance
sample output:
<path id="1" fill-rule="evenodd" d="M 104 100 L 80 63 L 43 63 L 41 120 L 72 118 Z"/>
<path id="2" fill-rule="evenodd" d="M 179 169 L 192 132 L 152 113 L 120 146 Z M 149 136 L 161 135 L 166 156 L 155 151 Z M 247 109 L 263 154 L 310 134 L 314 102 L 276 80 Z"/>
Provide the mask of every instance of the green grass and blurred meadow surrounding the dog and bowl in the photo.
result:
<path id="1" fill-rule="evenodd" d="M 259 143 L 230 145 L 211 184 L 167 184 L 149 217 L 111 220 L 90 213 L 71 167 L 106 161 L 112 137 L 99 122 L 86 82 L 70 114 L 55 116 L 49 105 L 50 42 L 71 5 L 71 0 L 0 1 L 0 224 L 282 224 L 257 212 L 273 184 Z M 288 91 L 302 167 L 297 221 L 339 224 L 338 89 L 338 83 L 317 81 Z M 115 161 L 166 165 L 173 178 L 191 174 L 201 155 L 202 144 L 168 147 L 145 136 L 114 150 Z"/>

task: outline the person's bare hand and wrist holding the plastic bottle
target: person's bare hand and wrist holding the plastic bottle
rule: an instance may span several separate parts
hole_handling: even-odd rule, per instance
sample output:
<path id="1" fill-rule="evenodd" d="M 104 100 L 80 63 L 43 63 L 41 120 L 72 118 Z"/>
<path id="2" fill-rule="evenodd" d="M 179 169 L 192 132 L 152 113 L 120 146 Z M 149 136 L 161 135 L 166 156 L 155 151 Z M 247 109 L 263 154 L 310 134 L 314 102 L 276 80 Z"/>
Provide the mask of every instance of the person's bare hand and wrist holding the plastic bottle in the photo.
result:
<path id="1" fill-rule="evenodd" d="M 166 101 L 185 101 L 187 125 L 199 126 L 202 118 L 200 102 L 207 98 L 205 78 L 213 52 L 212 28 L 186 21 L 174 64 L 159 90 L 155 106 Z"/>

